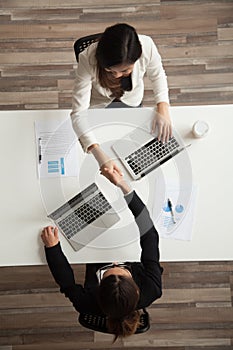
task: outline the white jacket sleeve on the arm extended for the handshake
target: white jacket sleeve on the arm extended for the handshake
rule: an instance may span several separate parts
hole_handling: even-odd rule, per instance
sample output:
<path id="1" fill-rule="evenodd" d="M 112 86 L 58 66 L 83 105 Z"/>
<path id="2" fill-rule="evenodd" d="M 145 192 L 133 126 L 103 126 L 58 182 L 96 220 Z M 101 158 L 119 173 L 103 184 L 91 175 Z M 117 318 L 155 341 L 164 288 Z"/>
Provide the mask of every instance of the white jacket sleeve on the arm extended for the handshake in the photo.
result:
<path id="1" fill-rule="evenodd" d="M 79 54 L 70 114 L 73 129 L 85 152 L 90 145 L 97 143 L 94 134 L 88 131 L 87 113 L 85 113 L 90 106 L 93 74 L 87 51 Z"/>

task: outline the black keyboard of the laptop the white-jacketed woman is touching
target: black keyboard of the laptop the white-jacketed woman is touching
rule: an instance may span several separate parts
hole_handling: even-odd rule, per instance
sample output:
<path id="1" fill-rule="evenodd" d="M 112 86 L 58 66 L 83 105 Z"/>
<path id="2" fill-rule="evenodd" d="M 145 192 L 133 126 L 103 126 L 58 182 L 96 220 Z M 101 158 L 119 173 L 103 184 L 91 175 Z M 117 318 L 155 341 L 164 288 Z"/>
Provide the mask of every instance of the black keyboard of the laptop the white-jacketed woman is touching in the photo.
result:
<path id="1" fill-rule="evenodd" d="M 125 158 L 135 175 L 138 175 L 150 165 L 171 154 L 179 147 L 174 137 L 162 143 L 157 138 L 149 141 Z"/>

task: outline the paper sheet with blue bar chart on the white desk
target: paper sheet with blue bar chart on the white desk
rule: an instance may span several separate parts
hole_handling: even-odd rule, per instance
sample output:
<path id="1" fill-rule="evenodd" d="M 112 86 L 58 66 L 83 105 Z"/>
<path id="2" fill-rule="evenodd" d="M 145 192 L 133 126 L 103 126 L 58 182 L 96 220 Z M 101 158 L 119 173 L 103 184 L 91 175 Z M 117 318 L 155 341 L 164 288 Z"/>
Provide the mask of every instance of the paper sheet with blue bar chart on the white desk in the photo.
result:
<path id="1" fill-rule="evenodd" d="M 35 121 L 39 178 L 78 175 L 77 137 L 70 118 Z"/>

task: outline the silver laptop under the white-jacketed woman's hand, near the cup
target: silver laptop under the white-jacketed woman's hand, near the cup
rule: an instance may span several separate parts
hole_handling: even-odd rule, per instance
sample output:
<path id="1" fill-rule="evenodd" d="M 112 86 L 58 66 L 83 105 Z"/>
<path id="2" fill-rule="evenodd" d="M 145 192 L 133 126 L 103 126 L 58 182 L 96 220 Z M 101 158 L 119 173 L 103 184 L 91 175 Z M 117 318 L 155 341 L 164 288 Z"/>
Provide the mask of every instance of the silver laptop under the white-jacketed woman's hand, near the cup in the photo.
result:
<path id="1" fill-rule="evenodd" d="M 116 141 L 112 149 L 131 177 L 138 180 L 188 146 L 182 145 L 175 131 L 173 137 L 163 144 L 156 135 L 151 134 L 150 123 L 147 122 Z"/>

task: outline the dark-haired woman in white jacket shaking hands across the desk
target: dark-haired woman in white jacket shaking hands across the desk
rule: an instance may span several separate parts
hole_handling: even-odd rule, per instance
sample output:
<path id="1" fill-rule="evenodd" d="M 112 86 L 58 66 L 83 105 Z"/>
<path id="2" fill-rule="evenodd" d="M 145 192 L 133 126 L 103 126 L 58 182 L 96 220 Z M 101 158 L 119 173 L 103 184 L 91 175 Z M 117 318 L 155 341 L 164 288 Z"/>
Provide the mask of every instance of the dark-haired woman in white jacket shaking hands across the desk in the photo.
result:
<path id="1" fill-rule="evenodd" d="M 71 119 L 84 151 L 95 156 L 102 173 L 105 168 L 120 174 L 121 170 L 101 150 L 94 134 L 83 130 L 82 112 L 90 106 L 139 107 L 145 74 L 152 83 L 155 99 L 152 132 L 157 127 L 158 138 L 166 142 L 172 134 L 167 78 L 153 40 L 137 35 L 130 25 L 119 23 L 106 28 L 98 42 L 79 54 Z"/>

